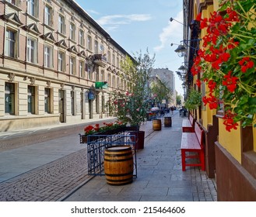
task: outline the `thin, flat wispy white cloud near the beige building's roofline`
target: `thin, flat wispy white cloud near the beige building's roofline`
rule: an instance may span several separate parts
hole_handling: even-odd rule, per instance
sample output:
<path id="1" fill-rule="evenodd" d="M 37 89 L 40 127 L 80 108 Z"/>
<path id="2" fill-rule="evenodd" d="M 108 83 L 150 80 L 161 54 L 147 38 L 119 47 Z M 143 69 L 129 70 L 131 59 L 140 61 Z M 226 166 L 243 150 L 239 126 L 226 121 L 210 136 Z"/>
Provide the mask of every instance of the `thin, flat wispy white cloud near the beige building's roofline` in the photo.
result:
<path id="1" fill-rule="evenodd" d="M 152 19 L 149 14 L 132 14 L 132 15 L 106 15 L 98 19 L 100 25 L 123 25 L 133 21 L 147 21 Z"/>

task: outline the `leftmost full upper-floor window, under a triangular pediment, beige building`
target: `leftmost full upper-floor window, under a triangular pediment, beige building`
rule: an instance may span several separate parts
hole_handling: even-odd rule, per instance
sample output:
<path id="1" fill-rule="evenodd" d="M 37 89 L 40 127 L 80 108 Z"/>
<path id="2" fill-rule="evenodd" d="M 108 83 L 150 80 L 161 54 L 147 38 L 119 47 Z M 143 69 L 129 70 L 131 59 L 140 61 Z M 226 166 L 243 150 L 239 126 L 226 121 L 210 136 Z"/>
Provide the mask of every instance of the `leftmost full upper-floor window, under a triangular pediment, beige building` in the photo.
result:
<path id="1" fill-rule="evenodd" d="M 17 57 L 16 52 L 16 40 L 17 39 L 17 32 L 11 29 L 6 30 L 6 37 L 5 37 L 5 55 L 8 57 Z"/>

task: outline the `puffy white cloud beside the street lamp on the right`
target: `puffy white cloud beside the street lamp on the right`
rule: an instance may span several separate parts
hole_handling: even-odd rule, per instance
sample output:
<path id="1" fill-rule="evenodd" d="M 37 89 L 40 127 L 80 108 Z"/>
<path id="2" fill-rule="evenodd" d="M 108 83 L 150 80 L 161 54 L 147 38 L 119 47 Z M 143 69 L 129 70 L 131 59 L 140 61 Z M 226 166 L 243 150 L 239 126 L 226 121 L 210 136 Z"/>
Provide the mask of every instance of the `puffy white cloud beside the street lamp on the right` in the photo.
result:
<path id="1" fill-rule="evenodd" d="M 177 17 L 175 17 L 174 19 L 179 22 L 183 22 L 183 12 L 179 12 L 177 14 Z M 177 43 L 177 40 L 182 40 L 181 36 L 183 32 L 183 26 L 179 22 L 176 22 L 175 20 L 173 22 L 169 21 L 168 25 L 162 29 L 162 32 L 159 35 L 160 45 L 154 47 L 154 50 L 156 52 L 162 50 L 164 47 L 167 46 L 167 44 L 169 45 L 170 43 Z"/>

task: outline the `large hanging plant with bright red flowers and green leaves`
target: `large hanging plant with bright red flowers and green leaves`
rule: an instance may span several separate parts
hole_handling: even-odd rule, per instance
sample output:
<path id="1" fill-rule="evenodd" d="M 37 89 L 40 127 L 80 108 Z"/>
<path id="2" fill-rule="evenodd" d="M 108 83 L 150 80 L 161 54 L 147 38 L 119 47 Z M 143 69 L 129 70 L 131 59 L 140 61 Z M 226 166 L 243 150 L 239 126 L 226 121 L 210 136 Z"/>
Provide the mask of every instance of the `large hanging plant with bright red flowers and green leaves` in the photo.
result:
<path id="1" fill-rule="evenodd" d="M 208 86 L 204 105 L 218 109 L 224 104 L 226 130 L 256 126 L 256 21 L 255 1 L 222 1 L 209 19 L 199 14 L 206 28 L 202 49 L 198 50 L 191 73 L 201 74 Z"/>

